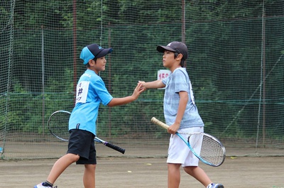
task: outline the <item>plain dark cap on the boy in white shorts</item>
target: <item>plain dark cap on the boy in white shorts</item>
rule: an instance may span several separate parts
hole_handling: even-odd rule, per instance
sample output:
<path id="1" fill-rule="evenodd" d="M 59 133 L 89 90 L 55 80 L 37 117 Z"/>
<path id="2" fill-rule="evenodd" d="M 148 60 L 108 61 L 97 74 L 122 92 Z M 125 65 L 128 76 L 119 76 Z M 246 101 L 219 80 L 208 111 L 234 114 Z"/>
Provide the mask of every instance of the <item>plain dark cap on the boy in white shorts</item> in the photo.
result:
<path id="1" fill-rule="evenodd" d="M 169 43 L 168 45 L 158 45 L 157 46 L 158 52 L 164 52 L 165 50 L 169 50 L 171 52 L 178 52 L 182 54 L 182 58 L 185 60 L 187 59 L 188 52 L 187 52 L 187 46 L 184 43 L 174 41 L 172 43 Z"/>

